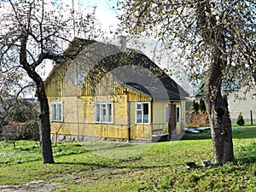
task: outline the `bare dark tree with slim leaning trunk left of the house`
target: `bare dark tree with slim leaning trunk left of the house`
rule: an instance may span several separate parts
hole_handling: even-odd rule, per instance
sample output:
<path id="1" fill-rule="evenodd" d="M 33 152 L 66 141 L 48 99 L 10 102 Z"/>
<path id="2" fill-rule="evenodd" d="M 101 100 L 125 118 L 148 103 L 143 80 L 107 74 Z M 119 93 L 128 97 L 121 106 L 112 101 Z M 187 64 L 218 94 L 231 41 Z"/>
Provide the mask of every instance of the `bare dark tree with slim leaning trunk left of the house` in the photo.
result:
<path id="1" fill-rule="evenodd" d="M 2 1 L 0 9 L 1 74 L 25 72 L 36 84 L 43 161 L 54 163 L 49 104 L 38 68 L 44 67 L 46 60 L 55 64 L 65 61 L 69 55 L 64 54 L 64 49 L 73 34 L 91 32 L 94 12 L 76 17 L 73 6 L 65 7 L 59 1 L 47 0 Z"/>

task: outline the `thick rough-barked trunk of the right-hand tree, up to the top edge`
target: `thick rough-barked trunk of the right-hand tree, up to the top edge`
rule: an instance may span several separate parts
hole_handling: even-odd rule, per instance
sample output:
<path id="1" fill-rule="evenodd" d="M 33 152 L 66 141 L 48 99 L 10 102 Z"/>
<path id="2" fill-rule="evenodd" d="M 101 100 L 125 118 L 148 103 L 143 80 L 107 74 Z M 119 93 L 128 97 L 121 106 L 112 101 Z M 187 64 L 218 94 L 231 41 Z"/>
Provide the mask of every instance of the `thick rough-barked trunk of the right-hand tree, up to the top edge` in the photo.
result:
<path id="1" fill-rule="evenodd" d="M 222 26 L 217 23 L 217 19 L 212 15 L 210 2 L 198 0 L 197 28 L 211 53 L 208 76 L 202 93 L 209 114 L 215 164 L 224 165 L 234 160 L 234 152 L 229 108 L 221 94 L 223 70 L 227 67 L 226 42 Z"/>

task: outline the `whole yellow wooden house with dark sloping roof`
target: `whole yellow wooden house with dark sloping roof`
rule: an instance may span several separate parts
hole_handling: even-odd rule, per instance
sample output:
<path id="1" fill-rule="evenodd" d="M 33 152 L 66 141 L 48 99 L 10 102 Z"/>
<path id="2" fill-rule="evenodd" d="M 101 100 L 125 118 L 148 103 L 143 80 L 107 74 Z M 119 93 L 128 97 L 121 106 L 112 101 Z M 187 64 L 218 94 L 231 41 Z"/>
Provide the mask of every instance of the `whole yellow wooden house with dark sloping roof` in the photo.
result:
<path id="1" fill-rule="evenodd" d="M 75 38 L 45 80 L 58 140 L 170 139 L 188 96 L 142 52 Z"/>

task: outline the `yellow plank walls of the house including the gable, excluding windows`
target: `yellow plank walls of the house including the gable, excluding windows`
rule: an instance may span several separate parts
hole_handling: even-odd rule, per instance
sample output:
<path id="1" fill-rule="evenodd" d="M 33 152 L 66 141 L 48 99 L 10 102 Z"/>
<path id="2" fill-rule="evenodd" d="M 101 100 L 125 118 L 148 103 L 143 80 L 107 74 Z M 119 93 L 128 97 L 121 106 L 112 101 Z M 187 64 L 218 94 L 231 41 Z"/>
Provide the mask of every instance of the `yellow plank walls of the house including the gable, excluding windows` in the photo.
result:
<path id="1" fill-rule="evenodd" d="M 73 71 L 79 70 L 71 65 L 68 70 L 57 68 L 48 79 L 46 92 L 51 102 L 62 102 L 63 121 L 51 122 L 51 133 L 64 136 L 77 137 L 103 137 L 127 139 L 150 139 L 152 129 L 162 129 L 168 132 L 166 124 L 166 104 L 170 102 L 153 102 L 151 117 L 153 123 L 137 125 L 136 102 L 150 102 L 151 97 L 119 84 L 111 75 L 102 76 L 96 84 L 95 92 L 91 91 L 90 81 L 85 84 L 73 84 Z M 113 102 L 113 123 L 102 124 L 95 122 L 95 102 Z M 182 112 L 185 108 L 180 102 Z M 130 113 L 130 116 L 128 116 Z M 182 113 L 184 117 L 184 113 Z M 51 119 L 51 114 L 50 114 Z M 184 118 L 183 118 L 184 119 Z M 177 124 L 180 130 L 182 124 Z"/>

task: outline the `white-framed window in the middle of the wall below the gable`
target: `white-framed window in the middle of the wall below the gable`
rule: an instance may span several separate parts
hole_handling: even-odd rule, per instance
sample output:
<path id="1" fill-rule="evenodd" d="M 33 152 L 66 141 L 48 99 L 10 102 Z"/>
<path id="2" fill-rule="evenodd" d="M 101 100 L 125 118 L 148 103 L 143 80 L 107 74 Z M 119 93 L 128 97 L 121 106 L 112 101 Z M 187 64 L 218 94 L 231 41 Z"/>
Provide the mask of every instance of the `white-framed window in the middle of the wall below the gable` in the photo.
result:
<path id="1" fill-rule="evenodd" d="M 113 123 L 113 102 L 95 103 L 95 122 Z"/>

